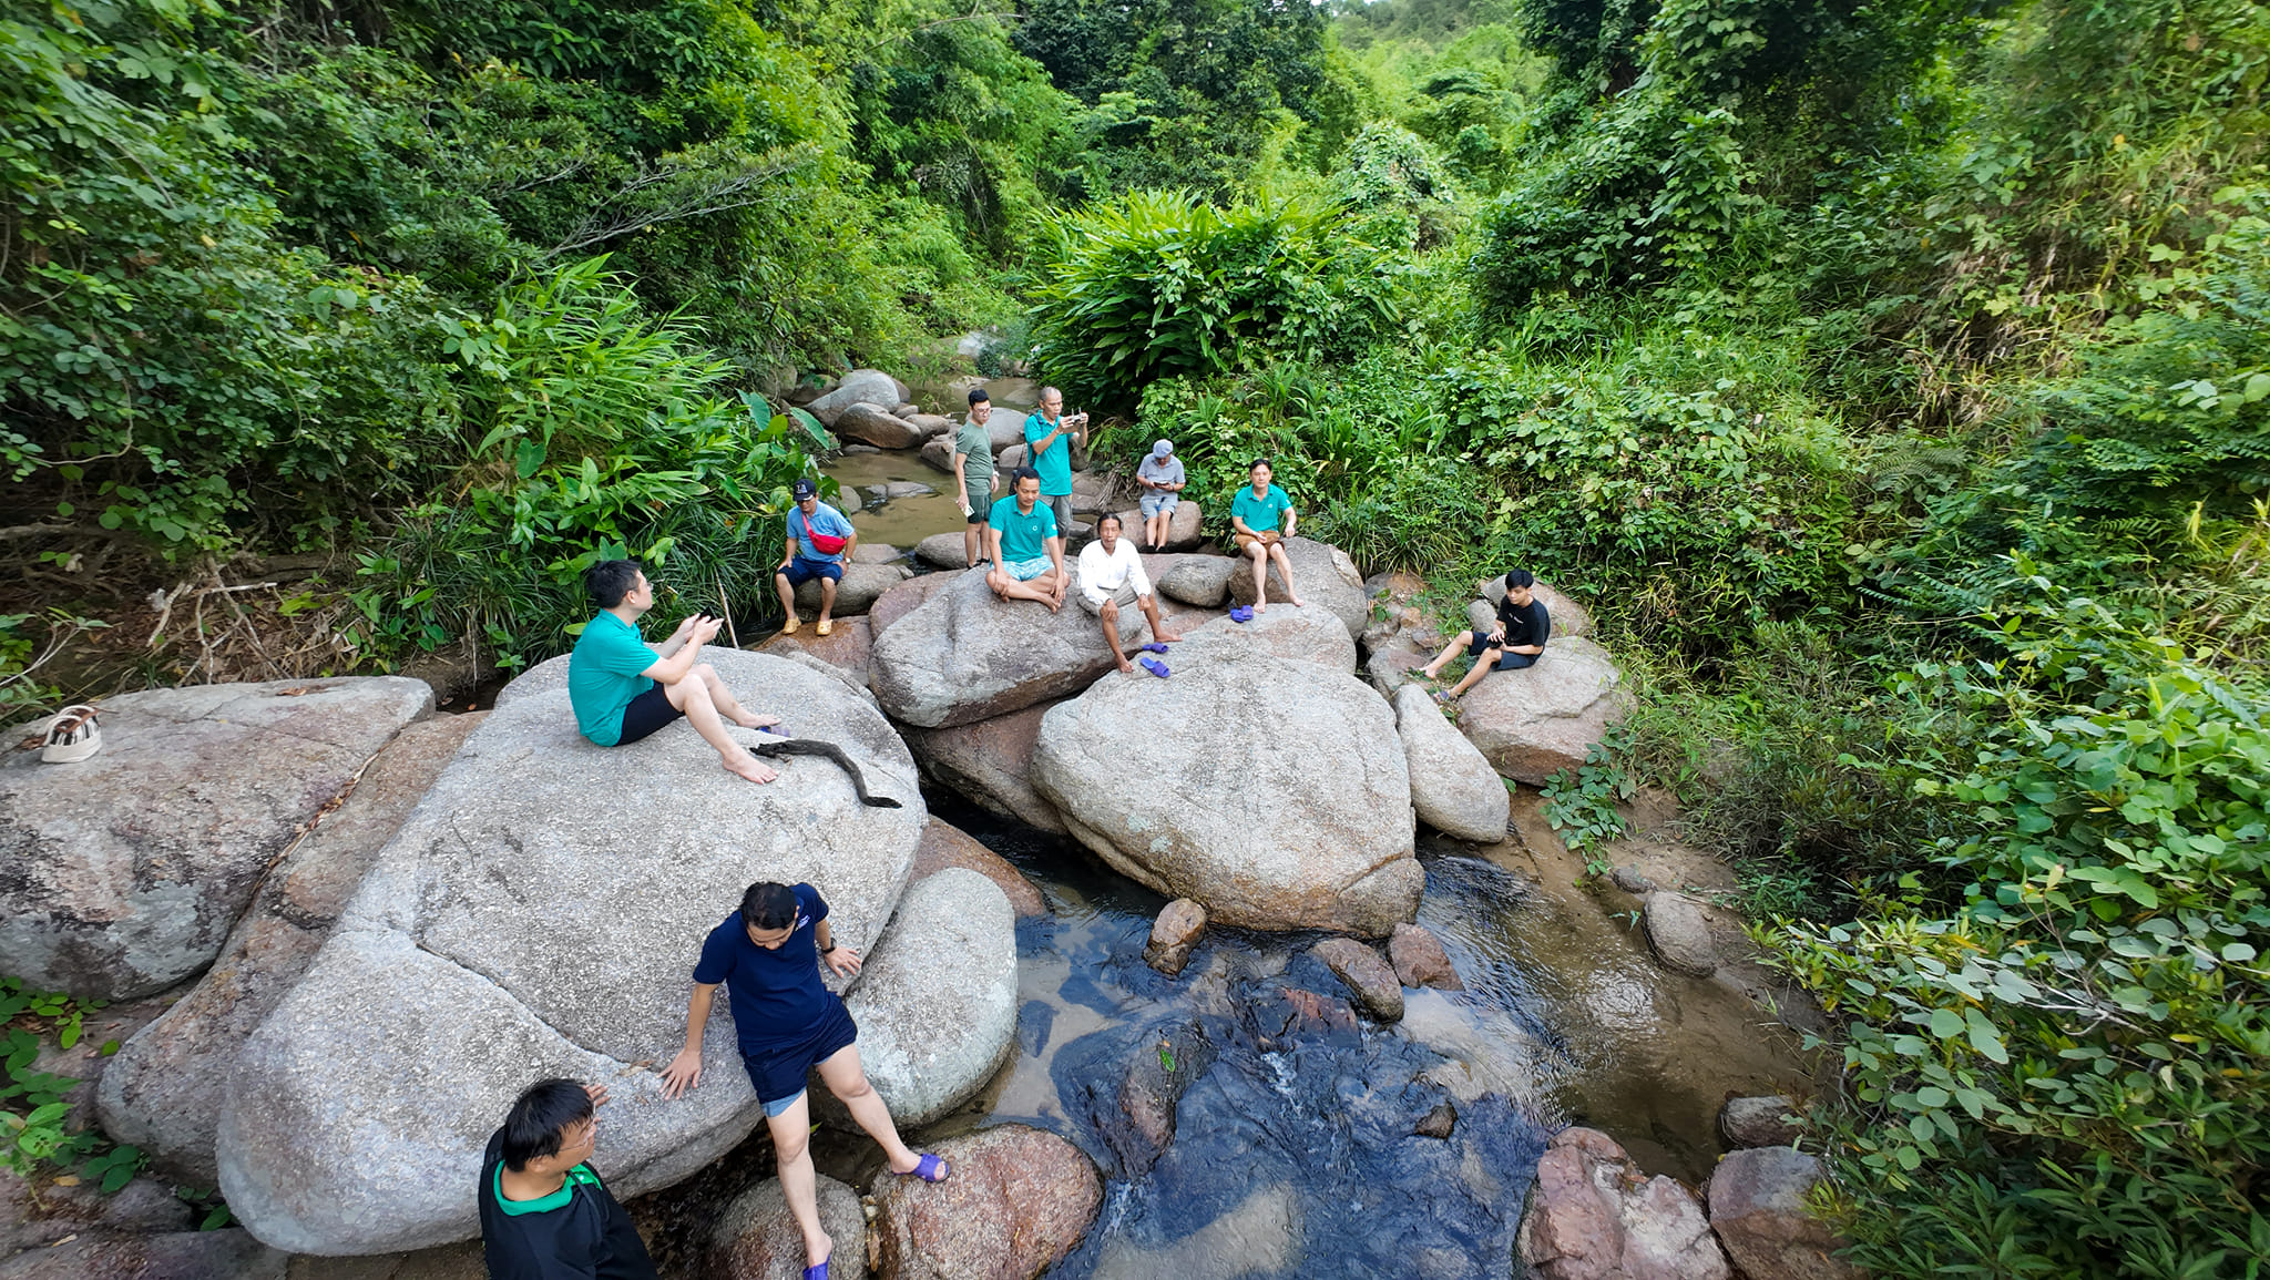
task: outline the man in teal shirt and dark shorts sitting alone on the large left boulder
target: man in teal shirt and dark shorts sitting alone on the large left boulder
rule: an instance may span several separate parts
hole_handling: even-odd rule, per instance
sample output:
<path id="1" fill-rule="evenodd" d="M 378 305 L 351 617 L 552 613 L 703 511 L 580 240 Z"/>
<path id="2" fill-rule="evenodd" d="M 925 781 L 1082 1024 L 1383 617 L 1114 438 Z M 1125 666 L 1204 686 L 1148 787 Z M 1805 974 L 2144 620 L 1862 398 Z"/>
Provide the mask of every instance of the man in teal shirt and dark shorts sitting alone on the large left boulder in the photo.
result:
<path id="1" fill-rule="evenodd" d="M 717 749 L 726 769 L 751 783 L 779 776 L 724 731 L 729 719 L 742 729 L 767 729 L 779 719 L 747 713 L 715 667 L 695 663 L 701 647 L 717 638 L 720 620 L 688 617 L 670 640 L 649 647 L 638 638 L 638 620 L 654 608 L 654 583 L 638 563 L 602 561 L 583 574 L 583 588 L 599 601 L 599 613 L 583 624 L 568 658 L 568 704 L 583 738 L 622 747 L 683 715 Z"/>

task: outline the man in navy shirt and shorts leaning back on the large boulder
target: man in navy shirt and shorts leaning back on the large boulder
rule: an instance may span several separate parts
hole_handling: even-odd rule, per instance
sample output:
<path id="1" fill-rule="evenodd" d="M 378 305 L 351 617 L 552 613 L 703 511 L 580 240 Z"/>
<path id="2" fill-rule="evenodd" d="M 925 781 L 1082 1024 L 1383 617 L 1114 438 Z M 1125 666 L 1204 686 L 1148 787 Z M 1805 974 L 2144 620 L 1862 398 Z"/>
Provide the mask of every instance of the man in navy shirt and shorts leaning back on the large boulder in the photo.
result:
<path id="1" fill-rule="evenodd" d="M 810 1262 L 804 1280 L 829 1280 L 829 1257 L 835 1253 L 835 1241 L 819 1230 L 819 1182 L 808 1151 L 813 1112 L 804 1080 L 815 1067 L 829 1092 L 851 1110 L 851 1119 L 883 1146 L 892 1173 L 924 1182 L 947 1178 L 944 1160 L 915 1155 L 899 1142 L 890 1108 L 858 1062 L 858 1026 L 842 996 L 819 980 L 819 965 L 842 976 L 858 974 L 860 967 L 858 953 L 829 935 L 829 903 L 819 890 L 770 881 L 749 885 L 740 910 L 701 942 L 695 994 L 686 1010 L 686 1049 L 663 1069 L 667 1098 L 701 1083 L 701 1028 L 708 1026 L 717 983 L 724 983 L 740 1062 L 772 1130 L 781 1191 L 804 1230 L 804 1257 Z"/>

